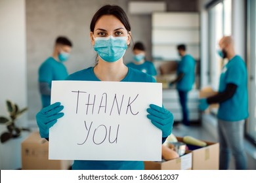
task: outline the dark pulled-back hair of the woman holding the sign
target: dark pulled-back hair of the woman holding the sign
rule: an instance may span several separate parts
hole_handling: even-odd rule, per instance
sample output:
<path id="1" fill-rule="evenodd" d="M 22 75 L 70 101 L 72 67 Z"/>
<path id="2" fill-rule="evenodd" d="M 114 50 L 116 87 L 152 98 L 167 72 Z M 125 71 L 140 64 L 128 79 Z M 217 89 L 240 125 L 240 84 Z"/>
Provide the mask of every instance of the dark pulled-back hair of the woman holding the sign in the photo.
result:
<path id="1" fill-rule="evenodd" d="M 93 16 L 90 25 L 91 32 L 94 31 L 97 20 L 103 15 L 116 16 L 116 18 L 125 26 L 125 29 L 127 29 L 128 32 L 131 31 L 131 25 L 125 11 L 117 5 L 105 5 L 104 7 L 98 9 Z"/>

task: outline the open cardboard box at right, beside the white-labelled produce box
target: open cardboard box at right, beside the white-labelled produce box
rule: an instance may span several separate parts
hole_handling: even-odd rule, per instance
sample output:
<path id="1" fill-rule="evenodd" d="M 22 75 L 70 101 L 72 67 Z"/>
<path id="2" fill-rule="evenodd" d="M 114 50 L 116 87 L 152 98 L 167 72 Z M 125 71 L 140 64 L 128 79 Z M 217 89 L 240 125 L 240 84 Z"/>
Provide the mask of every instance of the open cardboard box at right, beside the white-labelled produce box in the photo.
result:
<path id="1" fill-rule="evenodd" d="M 182 137 L 177 137 L 182 141 Z M 192 146 L 187 144 L 192 151 L 192 170 L 218 170 L 219 169 L 219 142 L 208 142 L 207 146 Z"/>

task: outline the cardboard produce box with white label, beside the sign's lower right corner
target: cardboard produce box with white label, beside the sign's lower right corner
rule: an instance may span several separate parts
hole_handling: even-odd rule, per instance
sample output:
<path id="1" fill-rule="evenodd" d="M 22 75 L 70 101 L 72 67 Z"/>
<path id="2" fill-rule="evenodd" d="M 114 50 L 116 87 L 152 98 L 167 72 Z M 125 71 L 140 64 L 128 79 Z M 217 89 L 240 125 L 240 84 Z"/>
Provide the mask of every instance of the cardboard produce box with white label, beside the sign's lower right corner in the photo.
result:
<path id="1" fill-rule="evenodd" d="M 169 161 L 144 161 L 145 170 L 191 170 L 192 152 Z"/>

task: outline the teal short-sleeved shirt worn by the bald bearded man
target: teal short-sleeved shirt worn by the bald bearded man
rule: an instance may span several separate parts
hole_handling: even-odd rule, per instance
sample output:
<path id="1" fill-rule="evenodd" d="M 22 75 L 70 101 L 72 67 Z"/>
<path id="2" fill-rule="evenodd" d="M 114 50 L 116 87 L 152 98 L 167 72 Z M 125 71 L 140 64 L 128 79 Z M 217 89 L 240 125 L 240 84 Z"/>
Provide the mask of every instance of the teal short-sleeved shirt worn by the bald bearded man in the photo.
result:
<path id="1" fill-rule="evenodd" d="M 249 116 L 247 70 L 240 56 L 234 56 L 224 65 L 219 80 L 219 92 L 223 92 L 229 83 L 236 84 L 236 92 L 230 99 L 220 103 L 217 117 L 228 122 L 244 120 Z"/>

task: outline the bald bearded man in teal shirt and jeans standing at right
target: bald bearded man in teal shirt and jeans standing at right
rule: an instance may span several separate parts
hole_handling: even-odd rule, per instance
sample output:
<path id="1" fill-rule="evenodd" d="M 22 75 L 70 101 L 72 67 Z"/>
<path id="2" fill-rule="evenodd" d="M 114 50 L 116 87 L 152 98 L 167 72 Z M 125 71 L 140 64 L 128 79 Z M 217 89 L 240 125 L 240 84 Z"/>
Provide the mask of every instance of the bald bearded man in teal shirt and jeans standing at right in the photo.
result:
<path id="1" fill-rule="evenodd" d="M 247 159 L 244 151 L 244 122 L 249 116 L 247 69 L 244 60 L 236 55 L 232 37 L 219 41 L 219 55 L 227 58 L 219 80 L 219 93 L 200 99 L 200 110 L 209 104 L 219 103 L 218 134 L 220 142 L 219 169 L 228 169 L 230 156 L 234 156 L 236 169 L 246 169 Z"/>

